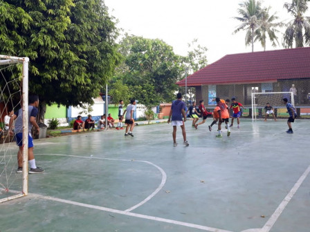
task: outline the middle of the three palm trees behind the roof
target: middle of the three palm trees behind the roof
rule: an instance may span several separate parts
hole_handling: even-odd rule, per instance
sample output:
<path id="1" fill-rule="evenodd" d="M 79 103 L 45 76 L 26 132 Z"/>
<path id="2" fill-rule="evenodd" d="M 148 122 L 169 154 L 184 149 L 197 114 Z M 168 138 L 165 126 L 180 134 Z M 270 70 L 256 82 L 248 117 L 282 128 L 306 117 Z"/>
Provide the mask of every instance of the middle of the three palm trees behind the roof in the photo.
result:
<path id="1" fill-rule="evenodd" d="M 267 35 L 272 42 L 272 46 L 276 47 L 279 44 L 277 41 L 277 36 L 275 35 L 276 32 L 279 32 L 276 28 L 279 26 L 283 26 L 283 23 L 275 23 L 273 21 L 279 19 L 275 14 L 270 15 L 269 10 L 271 7 L 264 8 L 262 10 L 262 14 L 260 14 L 259 18 L 259 28 L 255 31 L 255 41 L 260 41 L 264 50 L 266 50 L 266 38 Z M 277 42 L 277 44 L 275 43 Z"/>

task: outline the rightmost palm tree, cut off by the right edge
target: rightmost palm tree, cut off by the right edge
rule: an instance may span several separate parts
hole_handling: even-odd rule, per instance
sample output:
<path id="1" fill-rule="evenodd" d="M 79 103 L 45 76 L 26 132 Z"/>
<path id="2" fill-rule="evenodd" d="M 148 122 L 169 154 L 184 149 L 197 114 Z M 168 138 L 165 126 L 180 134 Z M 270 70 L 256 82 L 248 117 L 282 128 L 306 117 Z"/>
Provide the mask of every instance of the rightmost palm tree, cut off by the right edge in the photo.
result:
<path id="1" fill-rule="evenodd" d="M 310 45 L 310 17 L 303 15 L 308 10 L 307 0 L 293 0 L 285 3 L 284 8 L 293 15 L 293 20 L 286 24 L 283 46 L 292 48 L 294 40 L 296 48 Z"/>

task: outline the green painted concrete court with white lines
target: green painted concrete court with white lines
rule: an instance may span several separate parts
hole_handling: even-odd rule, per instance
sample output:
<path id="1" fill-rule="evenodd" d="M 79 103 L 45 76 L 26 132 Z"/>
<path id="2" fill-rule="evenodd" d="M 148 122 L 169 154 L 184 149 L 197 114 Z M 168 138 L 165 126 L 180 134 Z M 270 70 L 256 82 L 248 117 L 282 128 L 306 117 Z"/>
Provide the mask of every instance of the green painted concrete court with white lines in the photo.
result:
<path id="1" fill-rule="evenodd" d="M 188 147 L 171 124 L 35 140 L 46 172 L 0 204 L 0 231 L 310 231 L 310 121 L 241 119 L 222 138 L 210 122 L 185 123 Z"/>

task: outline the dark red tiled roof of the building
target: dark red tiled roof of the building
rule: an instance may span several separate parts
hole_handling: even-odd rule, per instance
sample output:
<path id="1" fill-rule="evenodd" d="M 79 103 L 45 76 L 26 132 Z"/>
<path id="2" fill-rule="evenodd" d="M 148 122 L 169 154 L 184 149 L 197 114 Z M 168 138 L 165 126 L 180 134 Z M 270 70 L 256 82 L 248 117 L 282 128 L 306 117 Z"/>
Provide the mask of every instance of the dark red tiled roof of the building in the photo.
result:
<path id="1" fill-rule="evenodd" d="M 188 76 L 188 86 L 310 78 L 310 48 L 226 55 Z M 185 79 L 177 82 L 185 86 Z"/>

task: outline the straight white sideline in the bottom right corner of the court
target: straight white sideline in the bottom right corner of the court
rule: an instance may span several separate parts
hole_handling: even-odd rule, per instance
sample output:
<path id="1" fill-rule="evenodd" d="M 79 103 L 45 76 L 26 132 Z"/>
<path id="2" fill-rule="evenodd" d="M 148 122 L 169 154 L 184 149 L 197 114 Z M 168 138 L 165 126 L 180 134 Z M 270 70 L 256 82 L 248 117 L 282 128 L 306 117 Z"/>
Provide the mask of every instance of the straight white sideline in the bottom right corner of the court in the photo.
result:
<path id="1" fill-rule="evenodd" d="M 295 195 L 295 193 L 298 191 L 298 189 L 302 185 L 302 182 L 304 182 L 304 179 L 306 179 L 306 177 L 307 177 L 307 175 L 309 175 L 309 173 L 310 173 L 310 166 L 308 166 L 306 171 L 304 171 L 304 173 L 299 178 L 299 180 L 296 182 L 296 184 L 293 186 L 291 191 L 289 191 L 289 193 L 286 195 L 286 197 L 284 197 L 284 200 L 282 200 L 281 204 L 277 207 L 277 209 L 275 210 L 273 215 L 271 215 L 271 217 L 266 222 L 266 224 L 264 225 L 262 230 L 260 230 L 259 232 L 268 232 L 271 230 L 271 228 L 273 227 L 273 225 L 275 224 L 277 219 L 280 217 L 281 213 L 284 211 L 287 204 L 289 204 L 293 195 Z"/>

